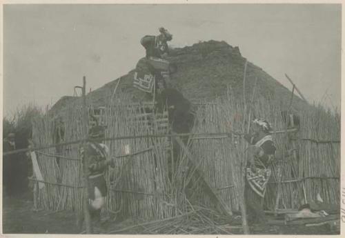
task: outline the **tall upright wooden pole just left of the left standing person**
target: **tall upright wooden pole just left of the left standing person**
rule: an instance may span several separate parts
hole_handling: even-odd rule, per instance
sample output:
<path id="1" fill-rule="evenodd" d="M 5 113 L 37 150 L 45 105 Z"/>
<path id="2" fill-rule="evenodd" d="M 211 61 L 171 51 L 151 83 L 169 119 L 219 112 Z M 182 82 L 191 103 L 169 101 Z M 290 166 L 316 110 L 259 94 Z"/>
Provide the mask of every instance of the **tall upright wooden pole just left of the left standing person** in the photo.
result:
<path id="1" fill-rule="evenodd" d="M 88 137 L 88 112 L 86 108 L 86 77 L 83 77 L 83 135 L 84 138 Z M 83 148 L 86 148 L 86 142 L 83 141 Z M 91 217 L 90 212 L 88 210 L 88 158 L 84 152 L 84 159 L 83 159 L 83 180 L 85 184 L 84 188 L 84 199 L 83 199 L 83 213 L 85 219 L 85 226 L 86 226 L 86 234 L 92 233 L 92 224 L 91 224 Z"/>

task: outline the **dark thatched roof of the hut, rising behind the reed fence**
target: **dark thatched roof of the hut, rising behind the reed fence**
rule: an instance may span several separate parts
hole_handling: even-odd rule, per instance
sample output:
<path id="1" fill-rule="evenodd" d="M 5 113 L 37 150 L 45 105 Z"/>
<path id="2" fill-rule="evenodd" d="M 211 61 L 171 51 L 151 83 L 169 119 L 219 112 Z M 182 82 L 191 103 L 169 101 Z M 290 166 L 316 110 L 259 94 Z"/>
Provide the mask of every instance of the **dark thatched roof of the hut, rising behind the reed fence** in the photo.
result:
<path id="1" fill-rule="evenodd" d="M 178 69 L 172 75 L 173 87 L 180 90 L 191 101 L 210 101 L 225 95 L 228 86 L 230 86 L 233 93 L 243 94 L 246 59 L 242 57 L 238 47 L 230 46 L 225 41 L 207 41 L 195 43 L 193 46 L 172 49 L 170 50 L 169 60 L 176 63 Z M 135 68 L 135 65 L 133 68 Z M 126 95 L 126 98 L 132 101 L 145 101 L 146 93 L 132 86 L 134 72 L 134 70 L 131 70 L 127 75 L 110 81 L 101 88 L 88 93 L 88 102 L 95 106 L 107 104 L 112 97 L 118 80 L 120 80 L 120 83 L 117 87 L 117 97 Z M 258 94 L 279 100 L 282 103 L 288 103 L 290 90 L 264 72 L 262 68 L 250 62 L 248 62 L 246 72 L 246 95 L 248 97 L 253 92 L 256 77 L 258 78 Z M 59 106 L 55 104 L 53 108 L 62 108 L 71 101 L 77 100 L 73 97 L 63 97 L 57 102 Z M 295 103 L 301 103 L 301 101 L 299 98 L 295 99 Z"/>

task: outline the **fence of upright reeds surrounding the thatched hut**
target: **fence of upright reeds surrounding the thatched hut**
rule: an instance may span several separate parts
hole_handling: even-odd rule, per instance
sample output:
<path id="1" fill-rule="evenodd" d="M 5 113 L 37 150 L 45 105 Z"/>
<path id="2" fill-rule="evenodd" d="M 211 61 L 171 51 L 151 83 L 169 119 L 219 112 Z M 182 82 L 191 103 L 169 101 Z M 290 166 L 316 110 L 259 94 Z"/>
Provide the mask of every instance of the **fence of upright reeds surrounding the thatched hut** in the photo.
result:
<path id="1" fill-rule="evenodd" d="M 167 112 L 158 115 L 146 108 L 142 104 L 128 106 L 128 103 L 117 100 L 104 106 L 101 121 L 107 126 L 106 137 L 168 133 Z M 243 128 L 248 128 L 249 110 L 251 119 L 262 117 L 275 131 L 285 130 L 280 113 L 285 109 L 279 103 L 261 97 L 250 101 L 244 108 L 242 101 L 230 93 L 225 99 L 199 103 L 193 133 L 229 132 L 229 136 L 190 136 L 187 146 L 198 169 L 204 172 L 231 210 L 239 210 L 240 175 L 246 146 L 242 137 L 231 132 L 243 133 Z M 59 119 L 62 130 L 55 130 L 56 118 L 35 119 L 34 145 L 83 139 L 81 115 L 81 108 L 74 106 L 66 110 Z M 288 136 L 286 133 L 274 134 L 278 150 L 284 148 L 284 151 L 290 151 L 290 156 L 273 163 L 273 175 L 265 197 L 265 206 L 271 210 L 277 199 L 278 167 L 282 171 L 280 208 L 297 208 L 313 202 L 317 193 L 325 202 L 339 204 L 339 115 L 320 106 L 308 106 L 300 110 L 299 117 L 299 130 L 288 132 Z M 172 159 L 174 150 L 168 137 L 108 140 L 106 146 L 110 148 L 109 158 L 117 159 L 115 168 L 107 170 L 105 175 L 108 195 L 103 211 L 150 220 L 179 216 L 197 207 L 215 208 L 215 201 L 199 183 L 201 178 L 189 168 L 184 151 L 179 152 L 179 159 Z M 130 155 L 126 155 L 128 148 Z M 39 190 L 39 208 L 81 209 L 83 171 L 79 149 L 79 144 L 70 144 L 37 152 L 39 168 L 46 182 Z"/>

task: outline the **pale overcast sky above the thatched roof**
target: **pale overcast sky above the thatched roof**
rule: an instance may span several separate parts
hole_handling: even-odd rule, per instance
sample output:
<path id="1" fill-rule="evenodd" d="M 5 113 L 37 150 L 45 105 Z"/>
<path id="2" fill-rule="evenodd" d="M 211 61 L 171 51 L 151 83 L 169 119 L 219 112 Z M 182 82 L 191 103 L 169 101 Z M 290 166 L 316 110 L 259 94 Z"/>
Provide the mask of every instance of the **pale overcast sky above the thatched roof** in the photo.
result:
<path id="1" fill-rule="evenodd" d="M 173 46 L 224 40 L 308 101 L 340 106 L 340 5 L 7 5 L 3 7 L 3 110 L 39 106 L 135 68 L 141 37 L 160 26 Z"/>

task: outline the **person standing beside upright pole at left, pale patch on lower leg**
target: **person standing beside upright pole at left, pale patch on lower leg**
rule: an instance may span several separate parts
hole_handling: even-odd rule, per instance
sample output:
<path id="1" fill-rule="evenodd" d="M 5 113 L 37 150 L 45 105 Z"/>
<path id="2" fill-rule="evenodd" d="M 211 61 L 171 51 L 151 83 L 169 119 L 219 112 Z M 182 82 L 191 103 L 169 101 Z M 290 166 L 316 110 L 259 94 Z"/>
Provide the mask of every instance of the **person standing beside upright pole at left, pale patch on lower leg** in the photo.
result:
<path id="1" fill-rule="evenodd" d="M 107 160 L 108 147 L 101 143 L 105 137 L 104 126 L 92 126 L 88 132 L 92 141 L 86 143 L 85 148 L 81 148 L 81 159 L 83 163 L 88 160 L 88 209 L 91 219 L 99 221 L 101 219 L 101 208 L 104 206 L 107 186 L 104 179 L 104 171 L 108 166 L 114 167 L 112 159 Z M 79 217 L 77 223 L 81 228 L 83 219 Z"/>

